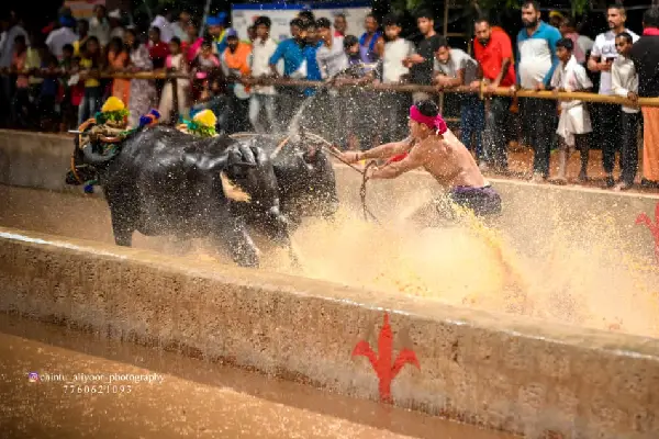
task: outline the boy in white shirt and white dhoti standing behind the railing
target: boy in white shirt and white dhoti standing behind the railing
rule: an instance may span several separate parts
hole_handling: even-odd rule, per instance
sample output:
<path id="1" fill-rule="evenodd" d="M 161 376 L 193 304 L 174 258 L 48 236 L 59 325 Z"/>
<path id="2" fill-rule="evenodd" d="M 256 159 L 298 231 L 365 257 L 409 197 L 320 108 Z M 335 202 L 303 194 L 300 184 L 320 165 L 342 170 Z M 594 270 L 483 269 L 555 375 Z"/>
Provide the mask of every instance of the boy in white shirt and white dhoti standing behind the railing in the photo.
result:
<path id="1" fill-rule="evenodd" d="M 551 77 L 551 87 L 555 92 L 565 91 L 589 91 L 593 83 L 589 79 L 585 69 L 572 55 L 574 46 L 570 38 L 562 38 L 556 43 L 556 55 L 560 65 L 554 71 Z M 556 133 L 560 136 L 558 175 L 552 179 L 554 182 L 565 184 L 568 180 L 566 168 L 569 154 L 576 147 L 581 150 L 581 171 L 579 181 L 588 179 L 588 155 L 589 144 L 588 134 L 592 133 L 592 125 L 588 109 L 582 101 L 571 100 L 559 103 L 560 119 Z"/>

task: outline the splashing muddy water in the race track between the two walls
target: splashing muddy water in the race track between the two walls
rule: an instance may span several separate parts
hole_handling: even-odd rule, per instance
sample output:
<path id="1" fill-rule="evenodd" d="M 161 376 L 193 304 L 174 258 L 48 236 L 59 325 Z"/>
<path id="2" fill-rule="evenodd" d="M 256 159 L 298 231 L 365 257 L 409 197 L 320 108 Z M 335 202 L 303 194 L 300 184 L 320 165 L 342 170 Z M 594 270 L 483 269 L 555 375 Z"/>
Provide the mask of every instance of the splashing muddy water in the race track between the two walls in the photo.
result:
<path id="1" fill-rule="evenodd" d="M 0 225 L 113 243 L 103 200 L 7 187 L 0 187 Z M 291 269 L 286 251 L 259 241 L 264 269 L 492 312 L 659 336 L 659 272 L 627 250 L 628 243 L 606 218 L 582 224 L 549 218 L 552 230 L 522 254 L 515 236 L 470 219 L 461 228 L 413 228 L 406 216 L 417 202 L 410 198 L 400 217 L 388 218 L 383 226 L 365 223 L 349 211 L 340 212 L 334 224 L 305 223 L 293 237 L 301 271 Z M 226 261 L 204 241 L 187 246 L 136 233 L 134 245 Z"/>

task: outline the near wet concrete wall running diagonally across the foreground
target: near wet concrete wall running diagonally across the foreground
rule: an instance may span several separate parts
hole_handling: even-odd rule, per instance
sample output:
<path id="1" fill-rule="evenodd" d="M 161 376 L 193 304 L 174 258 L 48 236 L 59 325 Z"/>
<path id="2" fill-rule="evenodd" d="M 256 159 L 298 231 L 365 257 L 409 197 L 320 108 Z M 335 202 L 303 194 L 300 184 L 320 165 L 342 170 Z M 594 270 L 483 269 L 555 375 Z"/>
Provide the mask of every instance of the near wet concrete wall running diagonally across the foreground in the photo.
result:
<path id="1" fill-rule="evenodd" d="M 0 311 L 372 399 L 351 353 L 378 350 L 388 313 L 393 358 L 421 365 L 393 381 L 395 405 L 529 438 L 659 435 L 656 339 L 7 228 Z"/>

